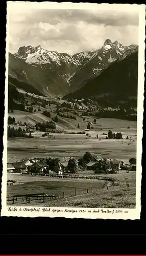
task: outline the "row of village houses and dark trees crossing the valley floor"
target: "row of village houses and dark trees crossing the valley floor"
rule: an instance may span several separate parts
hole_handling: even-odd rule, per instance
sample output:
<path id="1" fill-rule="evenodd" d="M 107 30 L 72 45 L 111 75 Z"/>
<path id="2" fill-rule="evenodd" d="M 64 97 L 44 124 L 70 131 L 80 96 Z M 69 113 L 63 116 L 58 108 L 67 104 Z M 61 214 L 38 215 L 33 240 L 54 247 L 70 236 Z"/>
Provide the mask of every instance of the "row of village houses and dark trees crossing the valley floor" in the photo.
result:
<path id="1" fill-rule="evenodd" d="M 106 159 L 86 152 L 83 158 L 75 159 L 65 156 L 58 158 L 27 158 L 20 162 L 7 163 L 7 173 L 20 173 L 31 175 L 64 175 L 78 172 L 94 174 L 117 174 L 136 171 L 136 158 L 129 159 L 129 164 L 117 159 Z"/>

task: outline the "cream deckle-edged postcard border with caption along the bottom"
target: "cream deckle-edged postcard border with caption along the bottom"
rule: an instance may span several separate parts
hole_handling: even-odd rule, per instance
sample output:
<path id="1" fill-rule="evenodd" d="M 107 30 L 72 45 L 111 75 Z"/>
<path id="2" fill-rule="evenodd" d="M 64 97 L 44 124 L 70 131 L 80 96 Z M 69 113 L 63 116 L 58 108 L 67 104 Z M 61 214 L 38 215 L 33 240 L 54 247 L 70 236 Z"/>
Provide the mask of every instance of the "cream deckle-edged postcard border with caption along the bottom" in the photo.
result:
<path id="1" fill-rule="evenodd" d="M 137 108 L 137 172 L 136 172 L 136 208 L 135 209 L 112 209 L 112 208 L 74 208 L 74 207 L 10 207 L 7 206 L 7 118 L 8 118 L 8 54 L 9 54 L 9 16 L 7 14 L 6 36 L 6 82 L 5 82 L 5 117 L 3 136 L 3 176 L 2 176 L 2 210 L 1 216 L 17 217 L 65 217 L 85 219 L 140 219 L 141 211 L 141 155 L 142 155 L 142 121 L 144 100 L 144 49 L 145 49 L 145 5 L 130 4 L 90 4 L 90 3 L 57 3 L 57 2 L 7 2 L 9 8 L 16 5 L 30 4 L 33 8 L 50 9 L 139 9 L 139 51 L 138 51 L 138 108 Z"/>

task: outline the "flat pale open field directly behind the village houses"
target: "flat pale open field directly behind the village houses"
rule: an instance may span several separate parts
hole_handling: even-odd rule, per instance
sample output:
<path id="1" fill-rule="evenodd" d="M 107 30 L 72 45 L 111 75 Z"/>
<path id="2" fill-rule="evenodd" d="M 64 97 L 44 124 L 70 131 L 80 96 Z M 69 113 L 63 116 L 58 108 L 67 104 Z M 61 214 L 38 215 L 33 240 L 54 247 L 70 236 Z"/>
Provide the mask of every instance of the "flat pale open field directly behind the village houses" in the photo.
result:
<path id="1" fill-rule="evenodd" d="M 136 156 L 136 136 L 130 140 L 106 140 L 106 135 L 98 133 L 91 137 L 79 134 L 53 134 L 55 139 L 41 137 L 41 132 L 32 134 L 31 138 L 10 138 L 8 140 L 8 162 L 20 161 L 24 157 L 81 157 L 86 151 L 107 158 L 128 161 Z M 48 142 L 50 141 L 50 142 Z"/>

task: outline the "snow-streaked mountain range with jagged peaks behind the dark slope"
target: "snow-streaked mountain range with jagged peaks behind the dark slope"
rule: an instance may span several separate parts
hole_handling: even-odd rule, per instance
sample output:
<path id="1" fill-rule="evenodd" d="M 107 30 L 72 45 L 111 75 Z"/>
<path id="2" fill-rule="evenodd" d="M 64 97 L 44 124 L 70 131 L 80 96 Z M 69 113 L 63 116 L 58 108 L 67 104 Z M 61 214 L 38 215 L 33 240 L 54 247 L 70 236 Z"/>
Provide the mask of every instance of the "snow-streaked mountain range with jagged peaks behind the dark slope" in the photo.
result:
<path id="1" fill-rule="evenodd" d="M 107 39 L 101 49 L 70 55 L 23 46 L 17 53 L 9 53 L 9 82 L 37 95 L 76 93 L 136 47 Z"/>

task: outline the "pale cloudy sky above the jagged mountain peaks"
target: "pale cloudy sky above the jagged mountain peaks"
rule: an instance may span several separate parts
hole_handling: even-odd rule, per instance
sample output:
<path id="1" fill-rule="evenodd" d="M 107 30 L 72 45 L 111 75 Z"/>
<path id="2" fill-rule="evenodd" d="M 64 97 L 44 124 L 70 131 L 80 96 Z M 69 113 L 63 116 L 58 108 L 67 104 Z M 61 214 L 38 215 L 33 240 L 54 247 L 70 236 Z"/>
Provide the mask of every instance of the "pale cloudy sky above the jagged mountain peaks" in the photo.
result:
<path id="1" fill-rule="evenodd" d="M 41 3 L 10 2 L 8 5 L 9 52 L 14 54 L 19 47 L 40 45 L 48 51 L 75 54 L 100 49 L 106 39 L 118 40 L 125 46 L 138 45 L 136 5 L 127 5 L 127 8 L 116 4 L 104 8 L 90 4 L 87 9 L 86 4 L 76 4 L 61 9 L 60 3 L 56 3 L 55 8 Z"/>

